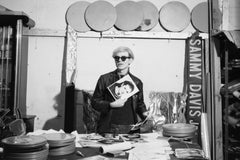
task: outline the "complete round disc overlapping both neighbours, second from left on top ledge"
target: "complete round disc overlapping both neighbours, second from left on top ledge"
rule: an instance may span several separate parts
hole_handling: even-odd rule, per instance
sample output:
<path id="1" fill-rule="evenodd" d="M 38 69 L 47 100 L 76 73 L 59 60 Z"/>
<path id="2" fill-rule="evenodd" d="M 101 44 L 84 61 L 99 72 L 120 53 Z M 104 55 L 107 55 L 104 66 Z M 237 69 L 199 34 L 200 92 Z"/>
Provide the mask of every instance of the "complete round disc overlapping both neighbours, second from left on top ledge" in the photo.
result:
<path id="1" fill-rule="evenodd" d="M 86 23 L 95 31 L 106 31 L 116 22 L 115 7 L 107 1 L 95 1 L 90 4 L 85 12 Z"/>

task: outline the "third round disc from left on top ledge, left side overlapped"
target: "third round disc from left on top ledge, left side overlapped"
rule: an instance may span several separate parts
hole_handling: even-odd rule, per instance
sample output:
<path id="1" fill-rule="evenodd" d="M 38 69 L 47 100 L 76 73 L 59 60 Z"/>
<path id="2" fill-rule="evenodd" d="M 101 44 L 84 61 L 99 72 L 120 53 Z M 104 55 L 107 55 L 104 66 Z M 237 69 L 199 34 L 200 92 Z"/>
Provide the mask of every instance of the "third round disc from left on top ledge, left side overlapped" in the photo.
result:
<path id="1" fill-rule="evenodd" d="M 143 21 L 143 9 L 140 4 L 134 1 L 123 1 L 115 6 L 117 20 L 115 27 L 131 31 L 137 29 Z"/>

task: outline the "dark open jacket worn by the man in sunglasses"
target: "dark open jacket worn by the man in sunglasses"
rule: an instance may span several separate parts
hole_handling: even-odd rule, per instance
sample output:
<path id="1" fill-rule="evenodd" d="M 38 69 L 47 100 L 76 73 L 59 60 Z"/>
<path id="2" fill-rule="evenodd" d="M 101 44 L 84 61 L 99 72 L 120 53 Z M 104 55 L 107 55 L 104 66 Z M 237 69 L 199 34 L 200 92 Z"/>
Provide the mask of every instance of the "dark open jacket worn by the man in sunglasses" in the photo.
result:
<path id="1" fill-rule="evenodd" d="M 132 98 L 132 107 L 136 113 L 134 119 L 144 119 L 145 116 L 143 113 L 146 111 L 146 106 L 143 98 L 143 83 L 142 81 L 129 73 L 130 77 L 135 82 L 136 86 L 139 89 L 139 92 L 133 95 Z M 108 91 L 107 87 L 112 83 L 119 80 L 117 71 L 112 71 L 101 75 L 98 79 L 95 91 L 92 97 L 92 106 L 95 110 L 100 112 L 100 120 L 98 122 L 97 132 L 98 133 L 107 133 L 110 131 L 111 125 L 111 115 L 112 110 L 110 108 L 110 103 L 114 101 L 113 96 Z"/>

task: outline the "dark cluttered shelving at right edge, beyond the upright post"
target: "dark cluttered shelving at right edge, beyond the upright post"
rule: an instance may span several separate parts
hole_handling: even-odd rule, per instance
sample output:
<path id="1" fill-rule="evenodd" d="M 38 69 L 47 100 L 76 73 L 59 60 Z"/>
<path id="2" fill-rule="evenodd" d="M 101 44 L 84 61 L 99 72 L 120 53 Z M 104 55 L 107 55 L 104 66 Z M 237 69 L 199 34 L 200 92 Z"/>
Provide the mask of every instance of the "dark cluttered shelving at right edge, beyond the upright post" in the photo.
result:
<path id="1" fill-rule="evenodd" d="M 240 111 L 240 97 L 234 96 L 235 91 L 240 90 L 240 46 L 237 44 L 238 38 L 229 36 L 233 31 L 221 31 L 214 35 L 217 46 L 217 53 L 220 59 L 220 82 L 219 87 L 222 104 L 222 133 L 223 133 L 223 156 L 224 159 L 236 159 L 240 156 L 240 139 L 238 132 L 240 128 L 235 128 L 232 118 L 240 120 L 234 115 L 232 109 Z M 240 35 L 240 32 L 234 32 Z M 236 36 L 235 35 L 235 36 Z M 237 40 L 237 41 L 236 41 Z M 239 108 L 239 110 L 238 110 Z"/>

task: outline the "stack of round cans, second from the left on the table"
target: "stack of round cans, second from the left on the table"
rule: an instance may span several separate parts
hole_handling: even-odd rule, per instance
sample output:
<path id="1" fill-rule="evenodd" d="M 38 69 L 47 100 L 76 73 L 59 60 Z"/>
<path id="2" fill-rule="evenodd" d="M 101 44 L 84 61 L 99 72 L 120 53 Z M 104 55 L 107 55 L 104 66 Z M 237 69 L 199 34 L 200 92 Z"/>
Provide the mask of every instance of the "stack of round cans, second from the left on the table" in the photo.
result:
<path id="1" fill-rule="evenodd" d="M 72 134 L 49 133 L 43 135 L 49 144 L 49 155 L 60 156 L 75 152 L 75 139 Z"/>

